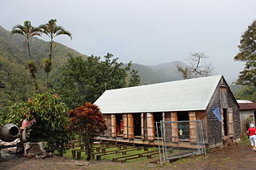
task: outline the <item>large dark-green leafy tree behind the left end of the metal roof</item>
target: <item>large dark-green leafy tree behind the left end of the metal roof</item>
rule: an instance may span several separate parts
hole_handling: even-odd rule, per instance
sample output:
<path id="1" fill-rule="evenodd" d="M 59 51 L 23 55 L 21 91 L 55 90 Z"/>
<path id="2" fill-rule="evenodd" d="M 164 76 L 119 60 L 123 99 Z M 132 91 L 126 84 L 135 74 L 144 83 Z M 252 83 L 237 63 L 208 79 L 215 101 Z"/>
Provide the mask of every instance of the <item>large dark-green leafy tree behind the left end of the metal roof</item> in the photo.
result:
<path id="1" fill-rule="evenodd" d="M 55 89 L 59 90 L 63 101 L 74 109 L 85 102 L 94 103 L 106 89 L 139 85 L 139 76 L 131 71 L 131 63 L 126 67 L 118 58 L 107 53 L 101 57 L 72 57 L 60 69 Z M 131 73 L 130 73 L 131 71 Z"/>

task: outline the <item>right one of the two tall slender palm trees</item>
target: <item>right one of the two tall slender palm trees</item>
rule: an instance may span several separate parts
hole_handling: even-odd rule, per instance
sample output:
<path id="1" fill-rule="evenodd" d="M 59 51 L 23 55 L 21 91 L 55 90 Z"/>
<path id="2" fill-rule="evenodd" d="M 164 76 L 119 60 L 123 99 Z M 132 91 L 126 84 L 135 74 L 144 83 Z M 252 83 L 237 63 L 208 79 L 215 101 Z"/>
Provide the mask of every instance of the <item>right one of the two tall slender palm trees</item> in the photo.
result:
<path id="1" fill-rule="evenodd" d="M 57 37 L 58 35 L 67 35 L 72 39 L 72 36 L 69 31 L 64 30 L 62 26 L 57 26 L 56 25 L 57 20 L 56 19 L 51 19 L 49 22 L 46 24 L 39 26 L 39 28 L 42 29 L 42 33 L 46 34 L 50 38 L 50 54 L 49 54 L 49 59 L 44 60 L 44 67 L 46 71 L 46 88 L 48 85 L 48 78 L 49 78 L 49 73 L 51 70 L 51 57 L 52 57 L 52 50 L 53 50 L 53 44 L 54 44 L 54 38 Z"/>

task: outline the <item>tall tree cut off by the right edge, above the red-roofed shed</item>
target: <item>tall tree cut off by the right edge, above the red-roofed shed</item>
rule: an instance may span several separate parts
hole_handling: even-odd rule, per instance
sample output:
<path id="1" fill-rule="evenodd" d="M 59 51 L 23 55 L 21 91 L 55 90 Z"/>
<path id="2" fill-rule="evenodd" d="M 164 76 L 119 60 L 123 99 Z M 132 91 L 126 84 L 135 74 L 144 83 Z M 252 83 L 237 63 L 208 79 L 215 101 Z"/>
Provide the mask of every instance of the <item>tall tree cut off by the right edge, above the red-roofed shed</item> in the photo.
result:
<path id="1" fill-rule="evenodd" d="M 245 68 L 240 72 L 237 83 L 240 85 L 254 85 L 256 87 L 256 21 L 242 34 L 239 53 L 235 61 L 244 61 Z"/>

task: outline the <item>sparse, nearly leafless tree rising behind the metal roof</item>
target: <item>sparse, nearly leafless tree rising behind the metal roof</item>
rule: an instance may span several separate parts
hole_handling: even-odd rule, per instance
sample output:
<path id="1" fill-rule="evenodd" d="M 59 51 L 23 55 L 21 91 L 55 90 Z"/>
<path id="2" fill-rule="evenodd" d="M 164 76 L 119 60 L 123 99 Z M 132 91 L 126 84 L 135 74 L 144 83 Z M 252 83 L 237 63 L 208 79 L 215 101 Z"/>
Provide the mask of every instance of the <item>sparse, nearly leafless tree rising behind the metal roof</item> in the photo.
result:
<path id="1" fill-rule="evenodd" d="M 205 53 L 191 53 L 186 60 L 190 62 L 189 66 L 176 65 L 176 68 L 184 79 L 195 77 L 207 77 L 214 73 L 214 67 L 206 61 Z"/>

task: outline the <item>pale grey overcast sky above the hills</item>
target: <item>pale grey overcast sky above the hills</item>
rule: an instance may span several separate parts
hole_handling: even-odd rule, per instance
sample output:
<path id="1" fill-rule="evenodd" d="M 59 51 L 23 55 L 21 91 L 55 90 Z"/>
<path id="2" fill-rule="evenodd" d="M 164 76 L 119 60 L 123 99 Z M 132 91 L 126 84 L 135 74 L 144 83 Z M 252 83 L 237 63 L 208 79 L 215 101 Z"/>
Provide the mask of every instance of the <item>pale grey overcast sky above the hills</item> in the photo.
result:
<path id="1" fill-rule="evenodd" d="M 0 0 L 0 25 L 11 30 L 25 20 L 39 26 L 55 18 L 73 35 L 57 42 L 143 65 L 204 52 L 218 74 L 234 81 L 243 69 L 234 55 L 256 19 L 255 6 L 255 0 Z"/>

